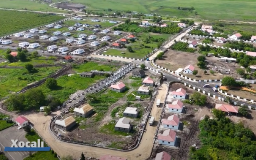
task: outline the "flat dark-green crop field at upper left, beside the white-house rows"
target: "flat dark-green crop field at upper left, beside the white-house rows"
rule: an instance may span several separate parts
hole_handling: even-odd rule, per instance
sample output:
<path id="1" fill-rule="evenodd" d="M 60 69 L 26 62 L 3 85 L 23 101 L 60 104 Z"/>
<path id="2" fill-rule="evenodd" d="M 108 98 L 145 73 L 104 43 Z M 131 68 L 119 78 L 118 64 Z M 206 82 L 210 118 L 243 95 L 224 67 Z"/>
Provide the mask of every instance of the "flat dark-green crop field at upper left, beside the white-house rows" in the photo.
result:
<path id="1" fill-rule="evenodd" d="M 0 10 L 0 15 L 0 36 L 42 26 L 44 24 L 49 24 L 64 18 L 62 16 L 52 14 L 38 14 L 6 10 Z"/>

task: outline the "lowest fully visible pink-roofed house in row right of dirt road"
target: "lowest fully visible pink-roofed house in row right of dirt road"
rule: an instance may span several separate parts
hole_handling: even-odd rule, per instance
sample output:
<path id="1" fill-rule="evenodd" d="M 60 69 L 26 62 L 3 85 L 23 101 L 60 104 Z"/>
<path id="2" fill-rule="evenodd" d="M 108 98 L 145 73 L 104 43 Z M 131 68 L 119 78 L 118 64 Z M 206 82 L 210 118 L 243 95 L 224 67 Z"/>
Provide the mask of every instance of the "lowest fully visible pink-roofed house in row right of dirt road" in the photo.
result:
<path id="1" fill-rule="evenodd" d="M 158 134 L 158 143 L 167 146 L 175 146 L 176 135 L 176 132 L 171 129 L 165 130 L 162 134 Z"/>

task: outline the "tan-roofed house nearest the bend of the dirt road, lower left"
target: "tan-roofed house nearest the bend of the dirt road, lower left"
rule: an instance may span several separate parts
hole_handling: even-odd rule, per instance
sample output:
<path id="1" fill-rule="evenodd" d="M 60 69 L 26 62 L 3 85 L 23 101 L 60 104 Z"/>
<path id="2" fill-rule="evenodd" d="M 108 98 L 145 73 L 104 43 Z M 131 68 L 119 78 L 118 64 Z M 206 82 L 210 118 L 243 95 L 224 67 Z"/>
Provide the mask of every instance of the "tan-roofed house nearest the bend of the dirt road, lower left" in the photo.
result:
<path id="1" fill-rule="evenodd" d="M 55 121 L 55 126 L 65 131 L 70 131 L 75 125 L 76 125 L 76 120 L 72 116 L 69 116 L 64 120 Z"/>

